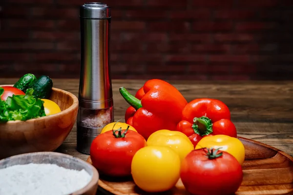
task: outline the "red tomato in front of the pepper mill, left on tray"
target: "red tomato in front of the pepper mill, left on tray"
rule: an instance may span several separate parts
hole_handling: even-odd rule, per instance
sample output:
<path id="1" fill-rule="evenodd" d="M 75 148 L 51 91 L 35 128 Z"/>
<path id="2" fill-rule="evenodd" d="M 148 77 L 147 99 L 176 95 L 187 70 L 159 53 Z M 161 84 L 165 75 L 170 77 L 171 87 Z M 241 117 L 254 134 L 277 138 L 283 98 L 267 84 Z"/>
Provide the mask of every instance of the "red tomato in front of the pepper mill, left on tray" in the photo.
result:
<path id="1" fill-rule="evenodd" d="M 146 146 L 146 139 L 134 131 L 114 130 L 97 136 L 90 147 L 93 166 L 107 176 L 131 176 L 135 153 Z"/>

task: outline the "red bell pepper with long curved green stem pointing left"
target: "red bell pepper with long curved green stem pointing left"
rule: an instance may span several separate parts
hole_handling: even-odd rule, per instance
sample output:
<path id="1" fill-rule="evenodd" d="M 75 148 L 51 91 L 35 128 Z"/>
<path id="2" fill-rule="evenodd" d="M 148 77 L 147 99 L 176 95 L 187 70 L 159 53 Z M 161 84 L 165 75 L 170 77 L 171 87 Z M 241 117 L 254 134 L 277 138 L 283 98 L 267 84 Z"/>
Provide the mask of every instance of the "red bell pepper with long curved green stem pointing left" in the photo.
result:
<path id="1" fill-rule="evenodd" d="M 132 126 L 145 139 L 161 129 L 176 130 L 187 100 L 173 85 L 164 80 L 150 79 L 143 86 L 145 95 L 141 100 L 130 95 L 124 87 L 119 90 L 123 98 L 135 108 Z"/>

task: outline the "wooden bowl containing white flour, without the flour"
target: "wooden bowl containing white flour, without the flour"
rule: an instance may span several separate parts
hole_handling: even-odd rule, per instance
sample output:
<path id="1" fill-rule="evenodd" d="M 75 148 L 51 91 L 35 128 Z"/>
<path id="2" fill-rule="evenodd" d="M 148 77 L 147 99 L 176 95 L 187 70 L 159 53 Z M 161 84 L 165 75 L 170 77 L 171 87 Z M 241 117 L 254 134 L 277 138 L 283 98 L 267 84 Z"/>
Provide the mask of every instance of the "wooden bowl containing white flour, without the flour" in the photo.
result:
<path id="1" fill-rule="evenodd" d="M 84 169 L 90 176 L 92 176 L 90 182 L 84 188 L 70 195 L 95 195 L 97 192 L 99 180 L 98 171 L 91 164 L 70 155 L 56 152 L 38 152 L 11 156 L 0 160 L 0 169 L 29 163 L 50 163 L 66 169 L 75 169 L 79 171 Z"/>

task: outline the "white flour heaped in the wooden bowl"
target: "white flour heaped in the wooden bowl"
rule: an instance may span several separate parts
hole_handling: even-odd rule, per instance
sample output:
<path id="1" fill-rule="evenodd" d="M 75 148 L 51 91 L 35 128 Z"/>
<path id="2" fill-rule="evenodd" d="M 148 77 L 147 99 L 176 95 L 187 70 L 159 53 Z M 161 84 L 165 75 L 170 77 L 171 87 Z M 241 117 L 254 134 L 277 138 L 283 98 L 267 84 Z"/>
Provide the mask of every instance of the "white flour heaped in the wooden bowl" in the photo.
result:
<path id="1" fill-rule="evenodd" d="M 68 195 L 90 180 L 85 170 L 55 164 L 14 165 L 0 169 L 0 195 Z"/>

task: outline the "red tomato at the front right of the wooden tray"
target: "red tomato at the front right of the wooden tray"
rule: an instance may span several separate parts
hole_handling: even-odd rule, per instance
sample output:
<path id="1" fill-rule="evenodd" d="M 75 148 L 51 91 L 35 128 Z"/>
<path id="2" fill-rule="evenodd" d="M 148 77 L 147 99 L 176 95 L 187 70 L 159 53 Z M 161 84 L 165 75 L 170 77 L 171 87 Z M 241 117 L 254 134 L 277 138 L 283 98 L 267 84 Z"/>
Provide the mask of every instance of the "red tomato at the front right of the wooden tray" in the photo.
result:
<path id="1" fill-rule="evenodd" d="M 230 195 L 240 187 L 243 172 L 240 163 L 229 153 L 202 148 L 184 158 L 180 177 L 190 194 Z"/>

